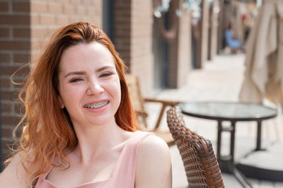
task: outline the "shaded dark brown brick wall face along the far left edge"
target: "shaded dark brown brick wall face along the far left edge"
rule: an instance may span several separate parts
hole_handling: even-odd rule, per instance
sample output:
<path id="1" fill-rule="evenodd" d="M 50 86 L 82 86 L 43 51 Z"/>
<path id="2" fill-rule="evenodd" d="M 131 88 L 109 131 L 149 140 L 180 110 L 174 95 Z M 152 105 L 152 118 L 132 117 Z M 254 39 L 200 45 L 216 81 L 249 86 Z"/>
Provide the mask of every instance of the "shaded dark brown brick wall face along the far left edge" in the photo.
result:
<path id="1" fill-rule="evenodd" d="M 6 145 L 11 143 L 13 128 L 19 120 L 18 89 L 10 77 L 28 62 L 30 53 L 30 1 L 1 1 L 0 7 L 1 141 L 6 154 Z M 27 72 L 25 68 L 23 73 Z"/>

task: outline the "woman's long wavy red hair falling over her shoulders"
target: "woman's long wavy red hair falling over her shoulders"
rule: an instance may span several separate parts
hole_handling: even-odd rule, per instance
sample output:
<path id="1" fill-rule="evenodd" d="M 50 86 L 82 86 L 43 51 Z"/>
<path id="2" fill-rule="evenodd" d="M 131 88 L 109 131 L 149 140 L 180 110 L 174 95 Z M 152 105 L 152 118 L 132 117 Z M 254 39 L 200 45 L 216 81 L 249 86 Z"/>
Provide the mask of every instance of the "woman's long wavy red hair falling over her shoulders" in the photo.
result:
<path id="1" fill-rule="evenodd" d="M 68 47 L 81 43 L 99 42 L 109 49 L 115 59 L 120 78 L 121 102 L 115 114 L 116 123 L 126 131 L 139 128 L 125 81 L 125 64 L 114 45 L 100 28 L 89 23 L 73 23 L 57 30 L 40 58 L 33 65 L 28 80 L 18 97 L 25 112 L 16 130 L 21 130 L 18 148 L 21 164 L 28 172 L 30 187 L 38 177 L 51 168 L 54 158 L 59 166 L 69 167 L 65 151 L 73 151 L 78 141 L 67 110 L 62 110 L 58 99 L 58 69 L 60 58 Z M 18 129 L 22 127 L 23 129 Z"/>

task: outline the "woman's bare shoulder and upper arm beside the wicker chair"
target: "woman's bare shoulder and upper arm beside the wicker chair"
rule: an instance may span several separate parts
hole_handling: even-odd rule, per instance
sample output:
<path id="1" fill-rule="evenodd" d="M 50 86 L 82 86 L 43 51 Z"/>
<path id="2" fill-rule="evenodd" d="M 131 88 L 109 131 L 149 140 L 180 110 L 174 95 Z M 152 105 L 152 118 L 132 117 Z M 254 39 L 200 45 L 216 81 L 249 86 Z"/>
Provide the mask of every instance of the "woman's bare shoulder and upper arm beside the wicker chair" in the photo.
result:
<path id="1" fill-rule="evenodd" d="M 140 143 L 135 185 L 137 188 L 172 186 L 170 151 L 158 136 L 146 136 Z"/>

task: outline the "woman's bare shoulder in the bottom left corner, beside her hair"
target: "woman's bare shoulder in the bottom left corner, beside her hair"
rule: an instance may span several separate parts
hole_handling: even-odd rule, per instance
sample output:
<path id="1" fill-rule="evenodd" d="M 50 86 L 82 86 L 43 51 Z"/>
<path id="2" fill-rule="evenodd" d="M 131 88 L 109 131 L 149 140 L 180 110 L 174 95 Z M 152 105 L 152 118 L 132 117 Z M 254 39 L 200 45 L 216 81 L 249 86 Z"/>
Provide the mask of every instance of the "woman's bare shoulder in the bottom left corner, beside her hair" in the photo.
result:
<path id="1" fill-rule="evenodd" d="M 27 173 L 21 165 L 21 153 L 17 153 L 11 163 L 0 174 L 1 187 L 28 187 L 25 183 Z"/>

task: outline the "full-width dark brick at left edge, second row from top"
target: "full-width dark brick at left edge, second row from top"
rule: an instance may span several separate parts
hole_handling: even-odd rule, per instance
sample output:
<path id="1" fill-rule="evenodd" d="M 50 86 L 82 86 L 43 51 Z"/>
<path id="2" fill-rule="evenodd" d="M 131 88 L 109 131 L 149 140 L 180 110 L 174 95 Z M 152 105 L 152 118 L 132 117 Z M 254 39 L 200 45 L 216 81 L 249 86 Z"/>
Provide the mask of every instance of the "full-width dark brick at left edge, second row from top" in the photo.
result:
<path id="1" fill-rule="evenodd" d="M 29 15 L 0 16 L 0 25 L 30 25 Z"/>

